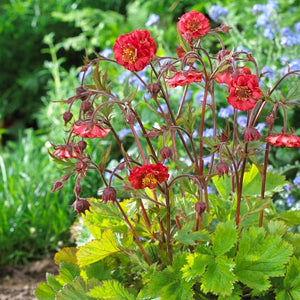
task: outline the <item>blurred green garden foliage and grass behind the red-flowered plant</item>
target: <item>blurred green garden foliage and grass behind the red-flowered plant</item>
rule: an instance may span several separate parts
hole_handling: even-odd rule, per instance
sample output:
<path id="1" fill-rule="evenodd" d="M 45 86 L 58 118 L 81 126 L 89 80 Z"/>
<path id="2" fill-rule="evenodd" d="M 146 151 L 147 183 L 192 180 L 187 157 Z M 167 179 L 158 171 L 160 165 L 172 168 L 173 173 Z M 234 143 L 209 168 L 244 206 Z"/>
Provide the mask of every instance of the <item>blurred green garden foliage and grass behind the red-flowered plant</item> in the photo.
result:
<path id="1" fill-rule="evenodd" d="M 70 243 L 68 228 L 75 215 L 69 207 L 74 201 L 73 188 L 68 184 L 63 191 L 50 193 L 51 183 L 62 176 L 62 172 L 49 159 L 45 143 L 62 143 L 66 136 L 61 116 L 64 104 L 57 101 L 72 96 L 79 86 L 78 74 L 86 53 L 106 51 L 111 55 L 109 51 L 118 35 L 147 28 L 156 37 L 158 55 L 175 55 L 176 22 L 183 13 L 194 9 L 210 17 L 211 27 L 221 23 L 233 27 L 230 35 L 223 35 L 228 47 L 247 48 L 258 60 L 260 69 L 268 67 L 282 74 L 286 62 L 295 68 L 300 66 L 300 39 L 297 28 L 294 29 L 294 24 L 300 21 L 300 6 L 299 0 L 278 0 L 277 6 L 275 2 L 1 1 L 0 265 L 26 263 Z M 257 4 L 265 5 L 266 9 L 256 11 Z M 225 8 L 227 13 L 213 12 L 213 5 Z M 282 31 L 287 27 L 290 35 Z M 291 39 L 284 40 L 289 36 L 295 38 L 293 45 L 288 44 Z M 208 39 L 205 46 L 211 53 L 220 49 L 212 39 Z M 124 69 L 113 67 L 110 71 L 116 91 L 123 90 L 126 80 L 134 84 Z M 141 75 L 147 76 L 147 72 Z M 279 75 L 265 78 L 264 84 L 272 84 L 276 78 Z M 296 79 L 291 82 L 296 84 Z M 282 85 L 283 93 L 289 89 L 290 85 Z M 224 89 L 217 91 L 218 97 L 224 99 L 220 107 L 227 105 L 224 92 Z M 195 97 L 196 90 L 192 93 Z M 141 97 L 144 94 L 145 91 L 139 91 Z M 299 108 L 289 112 L 289 126 L 297 129 L 298 135 L 299 112 Z M 149 124 L 153 121 L 147 120 L 147 116 L 144 120 Z M 278 124 L 282 124 L 280 118 Z M 123 125 L 116 126 L 123 135 L 125 147 L 130 148 L 133 140 L 126 137 Z M 108 146 L 105 143 L 99 146 L 100 150 Z M 291 182 L 299 178 L 297 150 L 278 149 L 273 151 L 271 160 L 274 168 L 287 175 Z M 299 199 L 298 181 L 291 183 L 284 195 L 278 196 L 281 210 L 289 209 Z M 101 182 L 93 176 L 84 184 L 93 190 L 101 187 Z M 282 200 L 291 196 L 295 200 L 291 205 Z"/>

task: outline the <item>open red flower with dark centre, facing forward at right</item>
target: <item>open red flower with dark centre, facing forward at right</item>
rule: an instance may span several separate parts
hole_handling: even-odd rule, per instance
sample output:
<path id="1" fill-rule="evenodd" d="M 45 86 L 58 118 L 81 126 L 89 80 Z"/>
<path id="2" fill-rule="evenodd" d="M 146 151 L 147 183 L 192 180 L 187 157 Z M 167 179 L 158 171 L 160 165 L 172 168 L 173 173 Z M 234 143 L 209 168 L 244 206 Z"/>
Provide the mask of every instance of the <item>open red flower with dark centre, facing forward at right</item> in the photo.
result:
<path id="1" fill-rule="evenodd" d="M 253 108 L 262 95 L 256 76 L 245 74 L 232 78 L 229 82 L 228 92 L 228 103 L 243 111 Z"/>

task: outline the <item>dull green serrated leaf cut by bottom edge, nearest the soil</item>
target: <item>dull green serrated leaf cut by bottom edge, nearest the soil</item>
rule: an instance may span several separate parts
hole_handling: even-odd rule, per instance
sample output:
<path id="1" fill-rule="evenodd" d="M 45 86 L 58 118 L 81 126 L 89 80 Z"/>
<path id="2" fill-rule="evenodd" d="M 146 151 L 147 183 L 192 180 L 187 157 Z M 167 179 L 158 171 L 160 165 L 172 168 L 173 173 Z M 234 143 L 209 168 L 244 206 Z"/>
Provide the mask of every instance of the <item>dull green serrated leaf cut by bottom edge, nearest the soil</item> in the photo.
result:
<path id="1" fill-rule="evenodd" d="M 55 300 L 91 300 L 86 295 L 87 286 L 82 277 L 76 277 L 72 283 L 64 285 L 63 289 L 58 292 Z"/>

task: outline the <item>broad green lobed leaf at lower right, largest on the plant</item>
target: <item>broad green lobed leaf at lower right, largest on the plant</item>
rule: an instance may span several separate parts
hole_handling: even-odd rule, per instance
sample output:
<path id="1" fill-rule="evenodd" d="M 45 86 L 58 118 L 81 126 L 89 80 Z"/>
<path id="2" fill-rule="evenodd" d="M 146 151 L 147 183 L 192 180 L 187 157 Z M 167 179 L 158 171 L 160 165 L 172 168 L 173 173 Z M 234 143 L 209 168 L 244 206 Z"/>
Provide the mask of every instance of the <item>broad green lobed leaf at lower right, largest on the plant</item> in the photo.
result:
<path id="1" fill-rule="evenodd" d="M 282 276 L 292 247 L 280 236 L 265 236 L 263 228 L 244 230 L 236 256 L 235 274 L 248 287 L 258 291 L 270 287 L 271 276 Z"/>

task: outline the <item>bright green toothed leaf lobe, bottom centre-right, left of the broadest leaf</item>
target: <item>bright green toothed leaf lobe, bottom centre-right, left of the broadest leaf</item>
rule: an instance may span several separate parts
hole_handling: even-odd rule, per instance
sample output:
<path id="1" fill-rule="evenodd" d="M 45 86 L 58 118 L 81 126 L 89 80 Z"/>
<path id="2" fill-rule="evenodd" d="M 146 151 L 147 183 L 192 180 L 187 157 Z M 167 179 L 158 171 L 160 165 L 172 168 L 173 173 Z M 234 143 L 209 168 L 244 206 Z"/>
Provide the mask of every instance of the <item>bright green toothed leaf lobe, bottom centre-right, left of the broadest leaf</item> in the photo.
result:
<path id="1" fill-rule="evenodd" d="M 221 296 L 231 295 L 233 284 L 237 280 L 233 273 L 234 266 L 233 259 L 225 256 L 219 256 L 210 261 L 201 280 L 201 289 L 204 293 L 211 292 Z"/>

